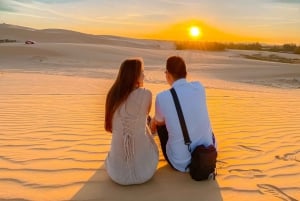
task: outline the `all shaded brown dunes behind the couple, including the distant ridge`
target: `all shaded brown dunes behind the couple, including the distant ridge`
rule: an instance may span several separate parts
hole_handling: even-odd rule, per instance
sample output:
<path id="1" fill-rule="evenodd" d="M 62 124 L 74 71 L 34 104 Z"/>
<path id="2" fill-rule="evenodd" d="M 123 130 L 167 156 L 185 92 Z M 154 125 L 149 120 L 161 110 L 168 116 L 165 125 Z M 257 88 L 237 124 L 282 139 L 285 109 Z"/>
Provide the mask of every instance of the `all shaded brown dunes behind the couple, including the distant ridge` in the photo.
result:
<path id="1" fill-rule="evenodd" d="M 241 50 L 179 51 L 174 49 L 172 43 L 165 41 L 94 36 L 57 29 L 35 30 L 7 24 L 0 24 L 0 30 L 0 38 L 18 41 L 28 39 L 28 35 L 33 40 L 40 38 L 40 42 L 34 45 L 25 45 L 23 42 L 0 44 L 0 69 L 26 69 L 55 74 L 59 68 L 59 73 L 65 75 L 111 77 L 112 71 L 116 71 L 122 60 L 139 56 L 145 60 L 146 68 L 151 72 L 148 81 L 164 83 L 164 77 L 160 76 L 161 79 L 157 80 L 157 75 L 152 75 L 152 71 L 162 70 L 168 56 L 180 55 L 189 63 L 191 77 L 300 88 L 300 64 L 258 61 L 243 57 L 261 54 L 300 60 L 300 55 Z M 90 41 L 86 41 L 86 38 L 90 38 Z M 215 87 L 215 84 L 212 85 Z M 223 83 L 220 84 L 222 85 Z"/>

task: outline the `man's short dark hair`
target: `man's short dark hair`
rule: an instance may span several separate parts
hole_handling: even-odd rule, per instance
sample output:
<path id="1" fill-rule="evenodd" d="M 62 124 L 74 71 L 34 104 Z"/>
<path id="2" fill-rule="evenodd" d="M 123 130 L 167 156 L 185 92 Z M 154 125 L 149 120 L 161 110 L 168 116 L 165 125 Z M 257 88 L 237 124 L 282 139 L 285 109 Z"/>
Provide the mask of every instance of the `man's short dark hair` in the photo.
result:
<path id="1" fill-rule="evenodd" d="M 167 71 L 174 77 L 175 80 L 186 78 L 186 65 L 184 60 L 179 56 L 169 57 L 167 60 Z"/>

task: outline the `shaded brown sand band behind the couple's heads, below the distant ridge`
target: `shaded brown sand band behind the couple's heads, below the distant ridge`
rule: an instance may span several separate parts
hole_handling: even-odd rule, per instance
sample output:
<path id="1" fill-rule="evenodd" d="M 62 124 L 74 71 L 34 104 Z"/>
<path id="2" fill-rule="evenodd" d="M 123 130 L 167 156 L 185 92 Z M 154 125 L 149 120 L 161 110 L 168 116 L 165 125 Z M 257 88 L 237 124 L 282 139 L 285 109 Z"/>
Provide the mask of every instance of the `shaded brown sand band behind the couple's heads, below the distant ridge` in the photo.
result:
<path id="1" fill-rule="evenodd" d="M 236 84 L 300 88 L 300 64 L 249 60 L 241 57 L 241 52 L 153 50 L 81 43 L 13 43 L 1 45 L 0 70 L 112 78 L 125 58 L 142 57 L 148 71 L 147 81 L 164 83 L 165 78 L 160 71 L 164 69 L 165 58 L 180 55 L 189 63 L 189 76 L 213 79 L 214 83 L 207 82 L 210 87 L 222 87 L 224 83 L 218 84 L 222 80 Z"/>

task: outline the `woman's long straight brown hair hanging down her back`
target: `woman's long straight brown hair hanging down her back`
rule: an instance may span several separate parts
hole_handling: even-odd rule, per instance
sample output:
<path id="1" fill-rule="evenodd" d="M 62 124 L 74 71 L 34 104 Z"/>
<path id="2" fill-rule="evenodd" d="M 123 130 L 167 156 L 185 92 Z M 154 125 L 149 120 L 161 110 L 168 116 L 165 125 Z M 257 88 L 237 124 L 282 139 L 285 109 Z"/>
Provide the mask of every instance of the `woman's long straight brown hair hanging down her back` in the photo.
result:
<path id="1" fill-rule="evenodd" d="M 105 103 L 105 130 L 112 132 L 112 118 L 118 107 L 128 98 L 136 88 L 142 72 L 140 59 L 127 59 L 119 69 L 116 81 L 110 88 Z"/>

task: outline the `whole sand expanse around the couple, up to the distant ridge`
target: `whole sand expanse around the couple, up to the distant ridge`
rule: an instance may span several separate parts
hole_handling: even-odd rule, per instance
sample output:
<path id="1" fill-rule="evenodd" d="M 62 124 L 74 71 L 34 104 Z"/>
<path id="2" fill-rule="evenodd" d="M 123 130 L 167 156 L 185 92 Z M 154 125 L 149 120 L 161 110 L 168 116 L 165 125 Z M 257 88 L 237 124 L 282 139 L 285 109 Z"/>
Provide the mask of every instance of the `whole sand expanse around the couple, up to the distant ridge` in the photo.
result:
<path id="1" fill-rule="evenodd" d="M 300 200 L 299 64 L 115 40 L 0 44 L 0 200 Z M 207 88 L 218 176 L 195 182 L 160 152 L 152 180 L 119 186 L 104 167 L 107 90 L 121 61 L 140 56 L 155 98 L 168 88 L 163 70 L 174 54 L 186 59 L 188 79 Z"/>

